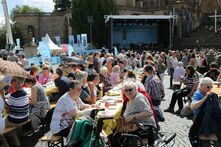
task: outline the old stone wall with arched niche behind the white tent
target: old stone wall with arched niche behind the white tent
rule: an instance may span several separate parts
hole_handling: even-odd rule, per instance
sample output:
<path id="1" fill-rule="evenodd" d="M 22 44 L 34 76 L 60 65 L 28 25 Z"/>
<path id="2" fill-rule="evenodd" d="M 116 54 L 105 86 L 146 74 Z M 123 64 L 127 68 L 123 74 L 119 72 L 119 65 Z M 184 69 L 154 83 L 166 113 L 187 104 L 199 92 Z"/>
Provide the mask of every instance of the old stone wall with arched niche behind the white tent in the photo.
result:
<path id="1" fill-rule="evenodd" d="M 15 21 L 24 43 L 28 42 L 30 31 L 36 42 L 48 33 L 53 41 L 55 41 L 55 36 L 60 36 L 61 43 L 67 43 L 68 34 L 71 34 L 68 26 L 68 16 L 62 13 L 17 14 L 15 15 Z"/>

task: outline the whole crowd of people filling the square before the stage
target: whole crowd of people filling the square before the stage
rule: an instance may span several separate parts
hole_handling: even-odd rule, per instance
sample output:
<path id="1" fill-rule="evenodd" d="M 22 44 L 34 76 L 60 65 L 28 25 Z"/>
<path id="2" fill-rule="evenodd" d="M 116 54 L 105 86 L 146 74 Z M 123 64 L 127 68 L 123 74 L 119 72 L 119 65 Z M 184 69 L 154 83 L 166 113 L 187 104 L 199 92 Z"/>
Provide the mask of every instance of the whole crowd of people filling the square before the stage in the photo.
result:
<path id="1" fill-rule="evenodd" d="M 7 109 L 5 120 L 0 117 L 1 124 L 17 126 L 31 119 L 31 128 L 28 133 L 38 129 L 42 119 L 46 116 L 50 103 L 56 103 L 50 120 L 52 134 L 67 137 L 75 118 L 84 115 L 83 111 L 96 107 L 96 101 L 116 85 L 122 83 L 123 109 L 122 118 L 126 123 L 144 123 L 159 128 L 159 121 L 165 121 L 161 110 L 161 102 L 165 98 L 164 75 L 170 75 L 170 87 L 174 90 L 171 102 L 165 112 L 181 115 L 184 109 L 184 97 L 191 101 L 190 109 L 193 110 L 193 122 L 202 109 L 209 105 L 208 97 L 212 95 L 213 81 L 221 81 L 221 54 L 215 49 L 185 49 L 183 51 L 138 53 L 133 50 L 122 50 L 114 56 L 102 49 L 100 53 L 93 53 L 87 57 L 78 56 L 87 60 L 87 64 L 75 62 L 61 63 L 55 71 L 50 63 L 41 66 L 31 63 L 28 65 L 24 56 L 18 58 L 10 54 L 9 61 L 17 62 L 30 73 L 29 79 L 13 76 L 9 87 L 1 89 L 0 111 Z M 202 80 L 200 80 L 202 79 Z M 45 87 L 54 84 L 58 91 L 46 95 Z M 30 94 L 25 91 L 30 88 Z M 220 108 L 220 99 L 216 100 Z M 179 109 L 174 112 L 178 101 Z M 207 105 L 205 103 L 208 103 Z M 206 106 L 204 106 L 206 105 Z M 211 108 L 213 110 L 213 108 Z M 211 111 L 212 111 L 211 110 Z M 221 113 L 214 113 L 217 118 Z M 2 115 L 2 113 L 0 113 Z M 201 116 L 202 117 L 202 116 Z M 219 117 L 221 118 L 221 117 Z M 216 131 L 203 132 L 201 145 L 207 144 L 211 139 L 208 134 L 216 137 L 214 140 L 220 143 L 219 119 L 213 119 Z M 211 122 L 210 121 L 210 122 Z M 206 123 L 206 122 L 205 122 Z M 202 126 L 205 124 L 202 124 Z M 136 133 L 139 128 L 131 130 Z M 4 125 L 0 126 L 0 132 L 4 131 Z M 21 131 L 24 133 L 27 128 Z M 19 133 L 19 132 L 18 132 Z M 206 135 L 205 135 L 206 134 Z M 9 143 L 19 145 L 14 133 L 5 135 Z M 11 138 L 10 136 L 13 136 Z M 110 135 L 112 146 L 118 146 L 116 136 Z M 205 139 L 206 138 L 206 139 Z M 208 139 L 209 138 L 209 139 Z M 149 146 L 153 146 L 154 135 L 148 136 Z M 14 145 L 14 144 L 13 144 Z"/>

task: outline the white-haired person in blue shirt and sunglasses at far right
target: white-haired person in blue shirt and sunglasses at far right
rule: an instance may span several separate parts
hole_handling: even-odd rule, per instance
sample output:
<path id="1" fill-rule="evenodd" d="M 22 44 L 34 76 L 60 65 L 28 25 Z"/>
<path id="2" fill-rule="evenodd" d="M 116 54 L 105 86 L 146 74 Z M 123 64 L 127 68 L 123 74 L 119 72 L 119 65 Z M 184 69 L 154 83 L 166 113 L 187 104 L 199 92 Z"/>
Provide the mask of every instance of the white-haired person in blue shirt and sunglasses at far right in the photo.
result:
<path id="1" fill-rule="evenodd" d="M 193 110 L 194 116 L 193 120 L 195 120 L 196 116 L 202 109 L 203 103 L 208 98 L 209 94 L 211 94 L 211 89 L 213 88 L 213 80 L 209 77 L 203 78 L 199 83 L 199 89 L 194 92 L 191 103 L 191 110 Z"/>

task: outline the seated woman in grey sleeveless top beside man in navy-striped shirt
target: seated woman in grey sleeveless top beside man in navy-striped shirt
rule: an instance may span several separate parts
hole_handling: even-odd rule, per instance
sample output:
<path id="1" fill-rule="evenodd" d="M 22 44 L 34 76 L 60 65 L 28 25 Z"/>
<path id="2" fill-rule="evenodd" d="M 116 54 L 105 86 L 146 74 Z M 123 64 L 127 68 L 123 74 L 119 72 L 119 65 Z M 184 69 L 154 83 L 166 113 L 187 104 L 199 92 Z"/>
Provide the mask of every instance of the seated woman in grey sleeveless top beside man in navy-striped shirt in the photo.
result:
<path id="1" fill-rule="evenodd" d="M 25 84 L 28 88 L 31 88 L 30 95 L 30 114 L 31 124 L 33 130 L 38 129 L 39 124 L 41 123 L 41 118 L 46 116 L 47 110 L 50 107 L 48 98 L 45 95 L 44 87 L 36 83 L 36 79 L 26 79 Z"/>

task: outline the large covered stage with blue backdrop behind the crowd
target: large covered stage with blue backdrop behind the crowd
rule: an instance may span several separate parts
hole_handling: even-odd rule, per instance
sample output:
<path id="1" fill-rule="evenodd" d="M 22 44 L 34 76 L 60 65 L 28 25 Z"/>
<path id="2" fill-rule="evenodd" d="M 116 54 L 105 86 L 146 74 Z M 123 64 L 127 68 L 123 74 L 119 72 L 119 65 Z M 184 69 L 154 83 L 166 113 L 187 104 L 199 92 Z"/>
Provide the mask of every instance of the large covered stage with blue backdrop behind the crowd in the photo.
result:
<path id="1" fill-rule="evenodd" d="M 171 48 L 172 15 L 107 15 L 108 48 L 129 48 L 132 44 Z"/>

